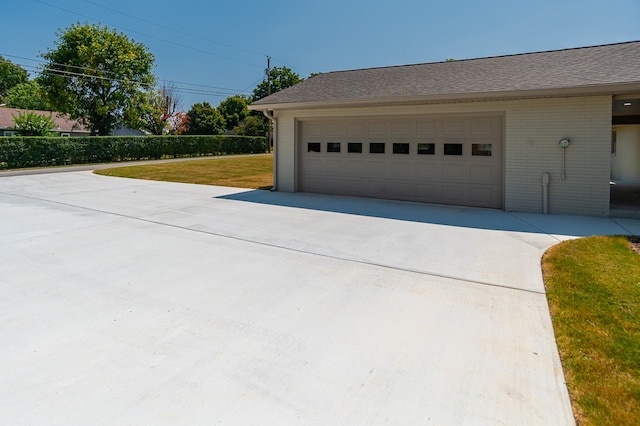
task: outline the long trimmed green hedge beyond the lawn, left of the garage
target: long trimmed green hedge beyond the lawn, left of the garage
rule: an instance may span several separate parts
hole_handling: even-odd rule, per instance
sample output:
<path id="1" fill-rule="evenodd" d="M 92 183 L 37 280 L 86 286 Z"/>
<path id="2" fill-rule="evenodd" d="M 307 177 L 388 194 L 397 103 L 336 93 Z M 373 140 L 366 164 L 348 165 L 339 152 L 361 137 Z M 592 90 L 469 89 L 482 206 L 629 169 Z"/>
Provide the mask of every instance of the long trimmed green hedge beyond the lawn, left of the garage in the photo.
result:
<path id="1" fill-rule="evenodd" d="M 0 137 L 0 169 L 265 152 L 257 136 Z"/>

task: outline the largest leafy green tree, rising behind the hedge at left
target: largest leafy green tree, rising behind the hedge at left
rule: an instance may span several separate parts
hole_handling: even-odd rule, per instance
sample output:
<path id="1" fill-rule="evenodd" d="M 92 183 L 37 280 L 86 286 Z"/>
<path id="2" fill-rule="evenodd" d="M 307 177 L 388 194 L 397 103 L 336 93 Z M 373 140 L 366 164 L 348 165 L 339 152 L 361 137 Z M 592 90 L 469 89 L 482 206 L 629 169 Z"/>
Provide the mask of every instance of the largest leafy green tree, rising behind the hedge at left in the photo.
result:
<path id="1" fill-rule="evenodd" d="M 74 24 L 58 33 L 38 82 L 51 105 L 80 120 L 92 135 L 119 124 L 135 127 L 135 113 L 153 86 L 154 57 L 143 44 L 100 25 Z"/>

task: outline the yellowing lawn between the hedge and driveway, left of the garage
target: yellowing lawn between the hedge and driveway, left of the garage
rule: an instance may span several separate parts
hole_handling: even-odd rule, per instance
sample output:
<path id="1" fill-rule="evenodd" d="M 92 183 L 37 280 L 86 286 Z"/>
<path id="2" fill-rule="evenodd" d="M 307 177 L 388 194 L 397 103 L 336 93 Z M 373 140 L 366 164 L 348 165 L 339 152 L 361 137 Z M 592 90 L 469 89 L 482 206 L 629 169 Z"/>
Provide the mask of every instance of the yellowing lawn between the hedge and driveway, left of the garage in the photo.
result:
<path id="1" fill-rule="evenodd" d="M 273 185 L 273 156 L 215 157 L 209 160 L 117 167 L 96 170 L 94 173 L 165 182 L 270 189 Z"/>

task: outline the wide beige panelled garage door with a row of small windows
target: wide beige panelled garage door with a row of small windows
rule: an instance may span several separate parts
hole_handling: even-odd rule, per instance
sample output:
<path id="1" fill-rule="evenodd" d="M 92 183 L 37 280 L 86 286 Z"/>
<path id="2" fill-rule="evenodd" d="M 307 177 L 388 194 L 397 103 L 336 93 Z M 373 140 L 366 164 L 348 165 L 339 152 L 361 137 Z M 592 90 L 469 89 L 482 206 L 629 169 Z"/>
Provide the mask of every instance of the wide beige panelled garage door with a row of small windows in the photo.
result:
<path id="1" fill-rule="evenodd" d="M 502 118 L 302 121 L 305 192 L 502 208 Z"/>

